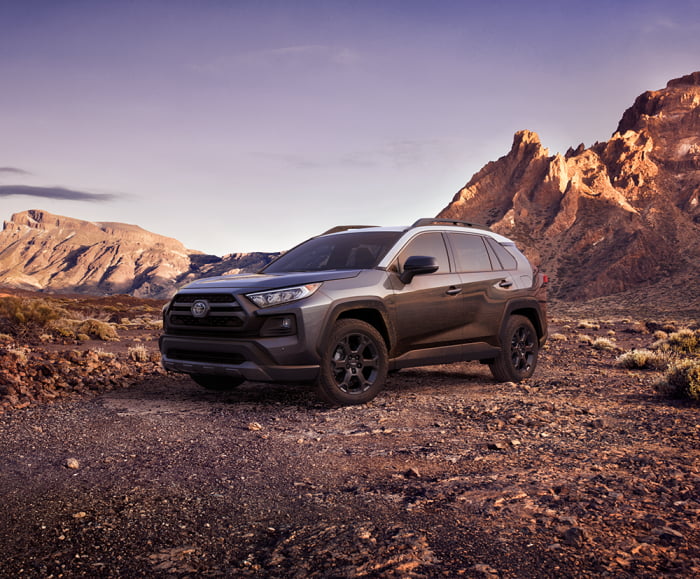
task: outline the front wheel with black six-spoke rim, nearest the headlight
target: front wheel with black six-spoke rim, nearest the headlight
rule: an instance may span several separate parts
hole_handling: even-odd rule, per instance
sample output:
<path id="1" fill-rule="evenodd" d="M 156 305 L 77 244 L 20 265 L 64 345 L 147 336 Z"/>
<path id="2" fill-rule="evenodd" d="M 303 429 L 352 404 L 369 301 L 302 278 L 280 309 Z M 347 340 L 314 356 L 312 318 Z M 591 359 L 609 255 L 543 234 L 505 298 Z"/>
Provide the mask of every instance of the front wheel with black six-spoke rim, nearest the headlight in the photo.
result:
<path id="1" fill-rule="evenodd" d="M 361 320 L 338 320 L 321 357 L 318 394 L 336 406 L 365 404 L 384 388 L 388 353 L 381 334 Z"/>

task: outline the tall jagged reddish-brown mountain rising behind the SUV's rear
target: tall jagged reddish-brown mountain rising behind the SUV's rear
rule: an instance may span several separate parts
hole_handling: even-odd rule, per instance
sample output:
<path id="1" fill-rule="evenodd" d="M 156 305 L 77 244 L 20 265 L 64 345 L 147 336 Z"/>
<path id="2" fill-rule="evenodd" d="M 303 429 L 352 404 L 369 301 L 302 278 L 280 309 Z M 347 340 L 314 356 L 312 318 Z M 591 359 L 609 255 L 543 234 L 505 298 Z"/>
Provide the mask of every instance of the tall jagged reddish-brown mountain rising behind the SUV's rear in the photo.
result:
<path id="1" fill-rule="evenodd" d="M 438 217 L 512 237 L 552 278 L 552 295 L 605 296 L 700 282 L 700 72 L 645 92 L 609 141 L 550 155 L 515 134 Z"/>

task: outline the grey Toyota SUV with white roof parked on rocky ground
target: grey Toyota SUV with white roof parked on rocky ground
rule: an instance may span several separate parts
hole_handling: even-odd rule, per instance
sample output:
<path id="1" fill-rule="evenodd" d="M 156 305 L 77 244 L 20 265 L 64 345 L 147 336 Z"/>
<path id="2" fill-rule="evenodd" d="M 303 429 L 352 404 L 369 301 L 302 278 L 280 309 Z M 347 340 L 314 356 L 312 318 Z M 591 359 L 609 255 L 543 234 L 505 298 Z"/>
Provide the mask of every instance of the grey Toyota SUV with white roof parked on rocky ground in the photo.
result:
<path id="1" fill-rule="evenodd" d="M 315 382 L 362 404 L 400 368 L 480 360 L 496 380 L 535 370 L 547 278 L 509 239 L 463 221 L 336 227 L 259 273 L 199 279 L 163 309 L 166 370 L 213 390 Z"/>

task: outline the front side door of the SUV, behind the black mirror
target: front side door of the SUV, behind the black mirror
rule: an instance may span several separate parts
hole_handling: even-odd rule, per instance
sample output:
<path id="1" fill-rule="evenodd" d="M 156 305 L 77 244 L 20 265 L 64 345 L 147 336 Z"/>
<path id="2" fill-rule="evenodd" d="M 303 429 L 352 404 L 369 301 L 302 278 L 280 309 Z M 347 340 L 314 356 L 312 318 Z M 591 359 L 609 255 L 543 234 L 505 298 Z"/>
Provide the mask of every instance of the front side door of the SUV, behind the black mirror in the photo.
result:
<path id="1" fill-rule="evenodd" d="M 403 264 L 411 256 L 434 257 L 435 273 L 416 275 L 410 283 L 399 279 Z M 431 348 L 463 341 L 464 305 L 461 279 L 452 271 L 440 232 L 420 233 L 401 250 L 389 268 L 394 290 L 393 308 L 397 348 Z"/>

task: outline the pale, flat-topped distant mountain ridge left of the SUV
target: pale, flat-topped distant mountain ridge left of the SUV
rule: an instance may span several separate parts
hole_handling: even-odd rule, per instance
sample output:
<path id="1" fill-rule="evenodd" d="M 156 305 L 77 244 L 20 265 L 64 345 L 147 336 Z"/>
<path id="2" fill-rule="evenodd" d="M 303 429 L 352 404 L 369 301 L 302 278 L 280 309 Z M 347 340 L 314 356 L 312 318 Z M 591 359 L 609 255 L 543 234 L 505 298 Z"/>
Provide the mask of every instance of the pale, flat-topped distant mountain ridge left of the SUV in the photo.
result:
<path id="1" fill-rule="evenodd" d="M 0 232 L 0 284 L 164 298 L 185 281 L 258 269 L 273 256 L 205 255 L 136 225 L 92 223 L 33 209 L 14 214 Z"/>

